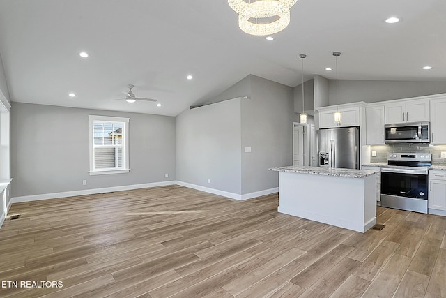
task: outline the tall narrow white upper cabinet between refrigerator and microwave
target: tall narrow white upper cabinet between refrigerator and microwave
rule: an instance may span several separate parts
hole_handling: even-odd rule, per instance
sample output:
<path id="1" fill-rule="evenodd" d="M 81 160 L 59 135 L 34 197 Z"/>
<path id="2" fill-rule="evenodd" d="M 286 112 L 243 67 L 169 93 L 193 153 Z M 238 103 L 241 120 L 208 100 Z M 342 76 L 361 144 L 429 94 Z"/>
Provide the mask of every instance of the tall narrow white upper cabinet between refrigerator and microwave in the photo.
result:
<path id="1" fill-rule="evenodd" d="M 384 105 L 369 106 L 366 108 L 366 144 L 384 144 Z"/>

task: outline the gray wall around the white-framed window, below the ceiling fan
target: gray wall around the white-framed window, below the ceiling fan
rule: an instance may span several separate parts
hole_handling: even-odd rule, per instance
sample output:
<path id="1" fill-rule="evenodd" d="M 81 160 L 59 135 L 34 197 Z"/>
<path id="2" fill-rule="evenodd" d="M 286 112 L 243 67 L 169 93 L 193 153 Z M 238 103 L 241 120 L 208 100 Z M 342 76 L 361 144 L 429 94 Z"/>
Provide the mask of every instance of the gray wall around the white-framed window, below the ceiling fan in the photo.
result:
<path id="1" fill-rule="evenodd" d="M 130 118 L 130 173 L 89 175 L 89 114 Z M 13 197 L 176 179 L 174 117 L 13 102 L 10 138 Z"/>

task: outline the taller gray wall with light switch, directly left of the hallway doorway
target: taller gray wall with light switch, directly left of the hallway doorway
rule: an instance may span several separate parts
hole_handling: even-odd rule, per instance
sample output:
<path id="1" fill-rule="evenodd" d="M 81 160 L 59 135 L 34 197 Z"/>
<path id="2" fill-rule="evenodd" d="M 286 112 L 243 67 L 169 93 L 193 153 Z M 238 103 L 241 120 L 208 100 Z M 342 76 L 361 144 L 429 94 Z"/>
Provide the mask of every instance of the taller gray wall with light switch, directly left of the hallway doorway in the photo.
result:
<path id="1" fill-rule="evenodd" d="M 242 101 L 242 194 L 279 186 L 269 167 L 293 164 L 293 88 L 251 76 L 251 99 Z"/>

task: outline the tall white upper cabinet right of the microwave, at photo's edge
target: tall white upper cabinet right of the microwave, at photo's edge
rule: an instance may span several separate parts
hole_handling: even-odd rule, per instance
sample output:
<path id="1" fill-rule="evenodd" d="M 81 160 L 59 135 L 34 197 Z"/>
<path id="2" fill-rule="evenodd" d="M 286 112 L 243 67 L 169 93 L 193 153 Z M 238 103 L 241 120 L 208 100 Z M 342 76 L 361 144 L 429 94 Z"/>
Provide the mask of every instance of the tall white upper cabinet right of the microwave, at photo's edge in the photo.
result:
<path id="1" fill-rule="evenodd" d="M 431 144 L 446 144 L 446 96 L 431 100 Z"/>

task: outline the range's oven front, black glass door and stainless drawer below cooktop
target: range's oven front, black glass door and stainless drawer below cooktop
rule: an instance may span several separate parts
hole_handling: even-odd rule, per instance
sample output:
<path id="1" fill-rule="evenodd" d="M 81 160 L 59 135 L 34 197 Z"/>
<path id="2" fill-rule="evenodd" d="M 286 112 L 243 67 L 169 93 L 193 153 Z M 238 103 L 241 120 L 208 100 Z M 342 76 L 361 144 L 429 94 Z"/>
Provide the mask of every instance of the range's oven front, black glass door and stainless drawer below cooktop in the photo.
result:
<path id="1" fill-rule="evenodd" d="M 427 213 L 428 170 L 381 167 L 381 206 Z"/>

